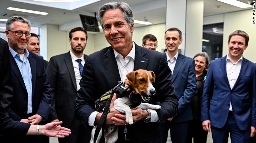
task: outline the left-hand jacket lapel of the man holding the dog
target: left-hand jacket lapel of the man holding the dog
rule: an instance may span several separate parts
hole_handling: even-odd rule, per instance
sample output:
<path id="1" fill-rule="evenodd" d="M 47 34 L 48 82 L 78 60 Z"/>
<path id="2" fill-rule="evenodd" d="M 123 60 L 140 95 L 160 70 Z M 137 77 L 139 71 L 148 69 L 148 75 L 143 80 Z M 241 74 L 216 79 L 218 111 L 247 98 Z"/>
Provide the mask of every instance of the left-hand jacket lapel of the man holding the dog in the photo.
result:
<path id="1" fill-rule="evenodd" d="M 115 58 L 114 50 L 112 47 L 109 47 L 102 62 L 112 87 L 115 87 L 118 81 L 121 81 L 121 78 L 117 67 L 117 60 Z"/>

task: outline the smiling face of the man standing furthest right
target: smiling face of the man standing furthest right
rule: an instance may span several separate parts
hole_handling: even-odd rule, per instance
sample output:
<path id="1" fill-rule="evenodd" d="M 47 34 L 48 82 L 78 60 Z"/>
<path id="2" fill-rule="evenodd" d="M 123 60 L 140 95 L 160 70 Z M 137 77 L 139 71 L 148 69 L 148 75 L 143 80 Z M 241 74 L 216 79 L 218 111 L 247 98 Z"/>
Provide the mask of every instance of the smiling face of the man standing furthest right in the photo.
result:
<path id="1" fill-rule="evenodd" d="M 234 62 L 241 58 L 248 44 L 245 45 L 245 38 L 240 35 L 231 37 L 228 43 L 228 56 Z"/>

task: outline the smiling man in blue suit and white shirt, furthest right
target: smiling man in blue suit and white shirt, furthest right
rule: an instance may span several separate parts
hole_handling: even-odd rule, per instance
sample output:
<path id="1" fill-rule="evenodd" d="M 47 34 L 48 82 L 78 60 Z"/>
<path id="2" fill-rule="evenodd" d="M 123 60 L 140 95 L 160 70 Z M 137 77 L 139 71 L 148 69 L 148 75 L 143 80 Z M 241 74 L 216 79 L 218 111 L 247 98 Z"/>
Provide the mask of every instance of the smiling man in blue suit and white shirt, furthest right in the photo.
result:
<path id="1" fill-rule="evenodd" d="M 256 127 L 256 66 L 243 57 L 249 36 L 228 37 L 228 55 L 210 63 L 203 89 L 201 120 L 216 143 L 249 142 Z"/>

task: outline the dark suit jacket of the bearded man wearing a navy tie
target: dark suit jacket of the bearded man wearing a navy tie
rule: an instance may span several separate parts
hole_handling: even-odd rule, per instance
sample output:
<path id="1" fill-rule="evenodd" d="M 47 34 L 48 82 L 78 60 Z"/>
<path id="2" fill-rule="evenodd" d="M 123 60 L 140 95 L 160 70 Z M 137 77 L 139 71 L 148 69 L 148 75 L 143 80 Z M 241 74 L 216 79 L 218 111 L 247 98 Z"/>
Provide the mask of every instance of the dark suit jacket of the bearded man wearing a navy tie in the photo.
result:
<path id="1" fill-rule="evenodd" d="M 87 55 L 84 54 L 84 59 Z M 49 120 L 63 121 L 63 127 L 69 127 L 74 116 L 77 87 L 75 71 L 70 52 L 53 56 L 47 68 L 49 83 L 52 87 L 52 107 Z"/>

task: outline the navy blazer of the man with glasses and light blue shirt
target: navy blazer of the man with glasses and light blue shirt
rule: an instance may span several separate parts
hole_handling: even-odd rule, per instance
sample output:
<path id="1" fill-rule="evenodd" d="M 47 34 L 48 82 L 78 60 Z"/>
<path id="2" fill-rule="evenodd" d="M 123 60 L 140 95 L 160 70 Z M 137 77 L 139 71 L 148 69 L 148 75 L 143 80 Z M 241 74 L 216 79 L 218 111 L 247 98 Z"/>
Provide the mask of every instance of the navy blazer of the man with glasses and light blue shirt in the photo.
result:
<path id="1" fill-rule="evenodd" d="M 10 53 L 11 73 L 13 88 L 13 99 L 9 116 L 16 121 L 27 119 L 28 93 L 21 76 L 20 70 Z M 51 108 L 50 84 L 46 76 L 43 58 L 29 52 L 29 62 L 32 73 L 32 114 L 38 114 L 43 120 L 48 119 Z"/>

